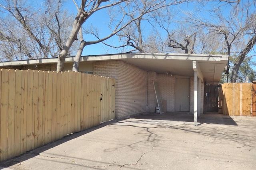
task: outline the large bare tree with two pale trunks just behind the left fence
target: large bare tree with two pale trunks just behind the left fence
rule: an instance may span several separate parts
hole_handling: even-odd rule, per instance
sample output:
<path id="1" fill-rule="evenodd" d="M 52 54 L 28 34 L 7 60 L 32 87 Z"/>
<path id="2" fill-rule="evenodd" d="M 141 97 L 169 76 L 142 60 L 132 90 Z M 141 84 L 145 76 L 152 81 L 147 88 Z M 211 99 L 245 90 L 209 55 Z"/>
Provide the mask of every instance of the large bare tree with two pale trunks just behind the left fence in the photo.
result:
<path id="1" fill-rule="evenodd" d="M 124 30 L 131 23 L 135 23 L 136 28 L 140 29 L 140 21 L 147 14 L 150 14 L 151 12 L 159 10 L 165 6 L 170 6 L 172 4 L 182 3 L 185 1 L 186 0 L 81 0 L 81 5 L 74 20 L 70 36 L 66 42 L 66 45 L 64 46 L 64 49 L 58 56 L 57 71 L 63 70 L 66 54 L 68 53 L 70 46 L 77 38 L 78 32 L 82 25 L 88 18 L 90 18 L 90 16 L 92 16 L 92 14 L 94 14 L 94 12 L 111 8 L 112 14 L 115 12 L 118 14 L 118 16 L 116 18 L 110 18 L 109 27 L 111 29 L 111 33 L 105 37 L 100 37 L 98 29 L 93 29 L 90 27 L 84 29 L 86 33 L 94 35 L 96 40 L 80 40 L 81 43 L 79 50 L 84 49 L 86 45 L 100 43 L 109 39 L 110 37 L 113 37 L 120 31 Z M 115 14 L 113 14 L 113 16 L 114 15 Z M 140 42 L 142 41 L 139 41 L 138 43 Z M 132 45 L 132 43 L 130 43 L 130 45 Z M 81 57 L 81 55 L 77 55 L 76 64 L 73 65 L 73 70 L 78 70 L 78 62 L 80 60 L 79 57 Z"/>

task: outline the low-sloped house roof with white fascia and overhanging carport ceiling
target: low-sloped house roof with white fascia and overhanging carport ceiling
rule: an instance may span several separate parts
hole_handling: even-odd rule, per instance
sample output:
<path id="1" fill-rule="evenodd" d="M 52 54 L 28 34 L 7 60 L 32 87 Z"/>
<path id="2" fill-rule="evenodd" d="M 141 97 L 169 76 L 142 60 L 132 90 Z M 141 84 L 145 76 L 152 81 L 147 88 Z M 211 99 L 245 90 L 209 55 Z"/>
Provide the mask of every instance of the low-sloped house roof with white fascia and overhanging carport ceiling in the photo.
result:
<path id="1" fill-rule="evenodd" d="M 121 60 L 136 65 L 145 70 L 162 74 L 194 76 L 194 71 L 200 71 L 207 84 L 218 84 L 222 72 L 228 62 L 228 55 L 206 54 L 171 54 L 171 53 L 121 53 L 109 55 L 82 56 L 80 62 Z M 195 64 L 196 62 L 196 67 Z M 0 63 L 3 66 L 18 66 L 29 64 L 57 63 L 58 58 L 32 59 L 24 61 L 8 61 Z M 74 62 L 74 57 L 66 57 L 65 63 Z"/>

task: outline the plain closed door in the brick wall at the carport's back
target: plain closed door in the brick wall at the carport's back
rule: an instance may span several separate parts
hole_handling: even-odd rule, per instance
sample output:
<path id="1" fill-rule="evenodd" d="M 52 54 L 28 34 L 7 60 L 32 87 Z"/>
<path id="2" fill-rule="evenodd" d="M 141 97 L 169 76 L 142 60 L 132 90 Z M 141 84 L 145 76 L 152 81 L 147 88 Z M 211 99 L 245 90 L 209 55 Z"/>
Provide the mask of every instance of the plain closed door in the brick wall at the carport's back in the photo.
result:
<path id="1" fill-rule="evenodd" d="M 189 111 L 190 78 L 176 78 L 175 84 L 175 110 Z"/>

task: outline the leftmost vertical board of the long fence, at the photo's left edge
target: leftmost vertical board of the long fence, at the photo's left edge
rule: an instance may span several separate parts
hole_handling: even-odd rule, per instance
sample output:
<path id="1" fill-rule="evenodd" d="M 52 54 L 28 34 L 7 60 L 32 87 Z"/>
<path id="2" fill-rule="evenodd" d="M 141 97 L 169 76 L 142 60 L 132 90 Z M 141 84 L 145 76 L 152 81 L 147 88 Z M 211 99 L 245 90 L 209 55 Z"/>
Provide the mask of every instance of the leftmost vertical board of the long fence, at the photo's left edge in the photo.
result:
<path id="1" fill-rule="evenodd" d="M 0 117 L 0 143 L 1 161 L 8 159 L 8 85 L 9 85 L 9 71 L 2 69 L 1 81 L 1 117 Z"/>

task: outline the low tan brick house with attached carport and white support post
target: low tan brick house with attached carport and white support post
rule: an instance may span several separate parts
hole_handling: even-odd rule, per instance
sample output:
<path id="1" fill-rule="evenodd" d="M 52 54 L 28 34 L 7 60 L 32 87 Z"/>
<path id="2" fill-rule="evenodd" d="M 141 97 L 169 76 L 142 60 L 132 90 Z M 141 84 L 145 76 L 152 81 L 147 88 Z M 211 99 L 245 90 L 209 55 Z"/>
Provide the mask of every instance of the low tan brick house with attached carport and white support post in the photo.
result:
<path id="1" fill-rule="evenodd" d="M 55 71 L 57 58 L 8 61 L 0 68 Z M 72 70 L 67 57 L 64 70 Z M 122 53 L 83 56 L 79 71 L 116 78 L 116 118 L 155 112 L 158 102 L 153 81 L 159 86 L 166 111 L 203 113 L 204 84 L 218 84 L 227 55 Z"/>

